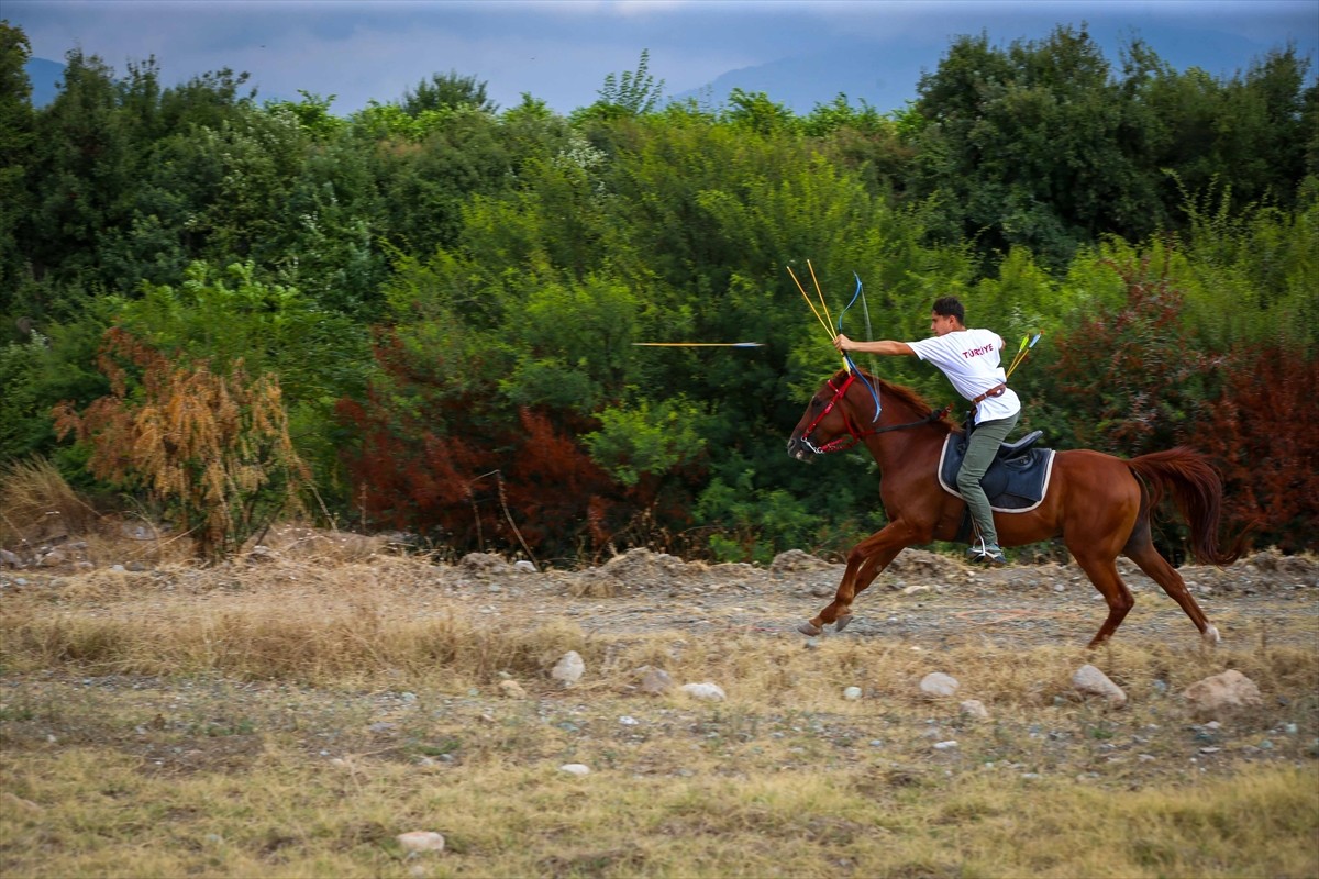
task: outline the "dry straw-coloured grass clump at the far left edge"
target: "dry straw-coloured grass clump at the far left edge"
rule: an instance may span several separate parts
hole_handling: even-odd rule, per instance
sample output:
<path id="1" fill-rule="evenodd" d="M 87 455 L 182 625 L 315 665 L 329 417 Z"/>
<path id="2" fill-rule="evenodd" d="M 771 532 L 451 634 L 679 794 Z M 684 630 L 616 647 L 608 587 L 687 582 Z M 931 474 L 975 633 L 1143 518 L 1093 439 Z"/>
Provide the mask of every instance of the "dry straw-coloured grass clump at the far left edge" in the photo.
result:
<path id="1" fill-rule="evenodd" d="M 42 459 L 0 470 L 0 546 L 36 544 L 100 531 L 100 515 Z"/>

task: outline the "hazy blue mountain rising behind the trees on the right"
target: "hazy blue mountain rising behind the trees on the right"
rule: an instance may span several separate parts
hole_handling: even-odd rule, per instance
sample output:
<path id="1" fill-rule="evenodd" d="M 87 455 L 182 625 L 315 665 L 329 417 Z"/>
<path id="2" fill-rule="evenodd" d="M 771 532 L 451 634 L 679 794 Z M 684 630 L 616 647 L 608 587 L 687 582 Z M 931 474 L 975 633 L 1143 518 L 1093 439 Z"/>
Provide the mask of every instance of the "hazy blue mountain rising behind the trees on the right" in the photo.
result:
<path id="1" fill-rule="evenodd" d="M 979 32 L 975 32 L 979 33 Z M 1272 46 L 1239 34 L 1190 28 L 1141 29 L 1116 25 L 1091 25 L 1091 38 L 1103 50 L 1115 74 L 1121 74 L 1120 50 L 1130 45 L 1133 33 L 1159 58 L 1177 70 L 1200 67 L 1212 76 L 1231 79 L 1262 59 Z M 1047 33 L 1024 34 L 1022 40 L 1042 40 Z M 1001 38 L 989 33 L 991 45 L 1008 46 L 1017 37 Z M 793 55 L 780 61 L 731 70 L 707 86 L 673 95 L 675 100 L 695 99 L 703 107 L 718 108 L 727 103 L 733 88 L 764 92 L 776 104 L 794 113 L 811 112 L 816 104 L 831 103 L 840 92 L 853 107 L 864 100 L 880 112 L 901 109 L 915 100 L 923 72 L 934 72 L 948 53 L 952 37 L 940 43 L 913 45 L 878 41 L 839 42 L 823 51 Z M 1297 50 L 1311 59 L 1310 80 L 1316 74 L 1315 57 L 1319 40 L 1314 34 L 1298 37 Z"/>

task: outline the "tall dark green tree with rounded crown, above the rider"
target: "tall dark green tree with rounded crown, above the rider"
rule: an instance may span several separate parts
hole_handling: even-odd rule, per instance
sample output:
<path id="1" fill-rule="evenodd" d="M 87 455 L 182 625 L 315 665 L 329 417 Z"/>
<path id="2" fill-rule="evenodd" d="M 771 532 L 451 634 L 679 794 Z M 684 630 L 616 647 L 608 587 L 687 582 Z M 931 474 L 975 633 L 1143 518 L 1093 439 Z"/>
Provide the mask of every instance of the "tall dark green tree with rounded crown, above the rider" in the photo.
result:
<path id="1" fill-rule="evenodd" d="M 1125 146 L 1109 65 L 1086 30 L 992 49 L 962 37 L 919 84 L 919 191 L 954 237 L 985 254 L 1025 245 L 1054 269 L 1099 235 L 1144 236 L 1157 219 Z"/>

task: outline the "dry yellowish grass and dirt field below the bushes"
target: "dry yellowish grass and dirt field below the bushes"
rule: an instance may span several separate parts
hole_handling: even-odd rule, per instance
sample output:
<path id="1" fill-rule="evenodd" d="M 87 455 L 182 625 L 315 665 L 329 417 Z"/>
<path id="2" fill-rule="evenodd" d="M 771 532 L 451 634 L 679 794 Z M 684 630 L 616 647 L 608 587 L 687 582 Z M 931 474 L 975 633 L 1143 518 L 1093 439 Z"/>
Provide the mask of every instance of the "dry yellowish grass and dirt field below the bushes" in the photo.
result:
<path id="1" fill-rule="evenodd" d="M 907 551 L 806 639 L 842 568 L 801 553 L 528 573 L 297 530 L 212 568 L 86 543 L 0 571 L 8 879 L 1319 876 L 1310 557 L 1183 569 L 1216 650 L 1132 576 L 1087 651 L 1103 602 L 1057 564 Z M 1128 705 L 1078 695 L 1083 663 Z M 1195 716 L 1182 692 L 1229 668 L 1262 704 Z M 954 697 L 922 695 L 935 671 Z M 679 689 L 704 681 L 727 698 Z"/>

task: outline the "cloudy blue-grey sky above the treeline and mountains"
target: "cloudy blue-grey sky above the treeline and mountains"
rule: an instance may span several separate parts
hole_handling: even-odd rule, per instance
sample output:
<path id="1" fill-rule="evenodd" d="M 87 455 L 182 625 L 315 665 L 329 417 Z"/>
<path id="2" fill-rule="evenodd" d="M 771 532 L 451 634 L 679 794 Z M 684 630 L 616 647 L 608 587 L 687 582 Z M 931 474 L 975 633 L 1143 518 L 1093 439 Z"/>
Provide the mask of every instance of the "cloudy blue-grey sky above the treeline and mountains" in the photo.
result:
<path id="1" fill-rule="evenodd" d="M 1191 25 L 1261 50 L 1319 40 L 1319 0 L 4 0 L 0 17 L 38 58 L 80 47 L 123 72 L 154 55 L 168 84 L 228 67 L 259 98 L 336 95 L 338 113 L 450 71 L 503 108 L 530 92 L 567 113 L 605 75 L 636 70 L 642 49 L 675 95 L 844 38 L 927 45 L 930 69 L 958 34 L 1006 45 L 1083 21 Z"/>

